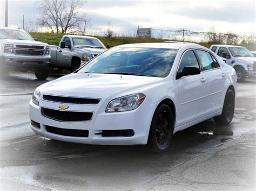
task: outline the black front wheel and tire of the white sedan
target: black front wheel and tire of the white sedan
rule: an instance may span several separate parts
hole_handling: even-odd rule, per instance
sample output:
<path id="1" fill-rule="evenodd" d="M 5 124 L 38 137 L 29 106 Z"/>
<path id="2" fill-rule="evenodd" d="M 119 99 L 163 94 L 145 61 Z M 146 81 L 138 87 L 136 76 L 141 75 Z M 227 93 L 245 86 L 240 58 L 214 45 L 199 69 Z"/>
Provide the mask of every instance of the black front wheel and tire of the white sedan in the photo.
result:
<path id="1" fill-rule="evenodd" d="M 171 108 L 166 104 L 161 104 L 154 112 L 149 140 L 147 145 L 155 153 L 166 151 L 170 144 L 174 129 L 174 119 Z"/>

